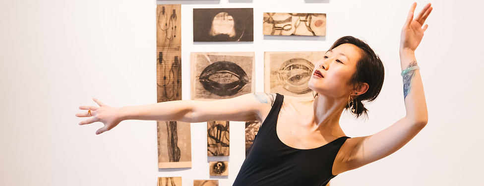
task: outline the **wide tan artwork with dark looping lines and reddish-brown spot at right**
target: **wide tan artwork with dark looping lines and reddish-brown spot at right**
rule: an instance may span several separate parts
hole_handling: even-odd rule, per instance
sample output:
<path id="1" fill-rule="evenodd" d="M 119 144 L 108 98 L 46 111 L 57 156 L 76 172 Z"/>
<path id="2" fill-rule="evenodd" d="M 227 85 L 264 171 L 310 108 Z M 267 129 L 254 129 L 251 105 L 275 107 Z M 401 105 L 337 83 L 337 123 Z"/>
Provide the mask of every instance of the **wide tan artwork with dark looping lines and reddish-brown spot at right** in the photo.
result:
<path id="1" fill-rule="evenodd" d="M 325 13 L 264 12 L 263 34 L 279 36 L 325 36 Z"/>

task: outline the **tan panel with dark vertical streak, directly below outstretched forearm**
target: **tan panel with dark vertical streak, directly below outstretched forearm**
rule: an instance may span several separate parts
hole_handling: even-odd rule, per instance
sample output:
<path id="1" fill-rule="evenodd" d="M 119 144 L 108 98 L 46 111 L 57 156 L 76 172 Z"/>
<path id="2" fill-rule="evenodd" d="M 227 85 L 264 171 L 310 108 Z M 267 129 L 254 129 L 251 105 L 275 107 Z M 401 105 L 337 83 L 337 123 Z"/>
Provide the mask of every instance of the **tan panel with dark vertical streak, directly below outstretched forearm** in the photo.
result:
<path id="1" fill-rule="evenodd" d="M 158 168 L 191 167 L 190 124 L 158 121 Z"/>

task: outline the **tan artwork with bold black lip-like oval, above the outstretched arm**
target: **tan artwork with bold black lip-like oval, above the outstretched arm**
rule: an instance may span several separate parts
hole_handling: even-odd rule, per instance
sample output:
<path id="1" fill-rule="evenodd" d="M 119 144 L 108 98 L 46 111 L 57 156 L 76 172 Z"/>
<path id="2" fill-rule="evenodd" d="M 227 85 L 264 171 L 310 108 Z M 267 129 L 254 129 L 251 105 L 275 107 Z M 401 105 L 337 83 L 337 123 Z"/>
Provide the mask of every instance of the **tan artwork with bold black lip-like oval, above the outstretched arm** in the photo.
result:
<path id="1" fill-rule="evenodd" d="M 191 53 L 191 99 L 226 99 L 255 91 L 254 53 Z"/>

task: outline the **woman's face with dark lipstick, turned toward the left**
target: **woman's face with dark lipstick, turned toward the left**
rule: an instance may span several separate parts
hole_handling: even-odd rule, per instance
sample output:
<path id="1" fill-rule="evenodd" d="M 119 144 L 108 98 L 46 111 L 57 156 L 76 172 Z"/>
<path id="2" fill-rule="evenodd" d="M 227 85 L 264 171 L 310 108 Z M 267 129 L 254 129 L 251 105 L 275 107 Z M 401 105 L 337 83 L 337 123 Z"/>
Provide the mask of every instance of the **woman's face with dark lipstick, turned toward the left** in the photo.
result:
<path id="1" fill-rule="evenodd" d="M 351 83 L 356 65 L 361 58 L 361 49 L 353 44 L 342 44 L 316 62 L 309 79 L 310 89 L 331 97 L 348 97 L 353 91 Z"/>

